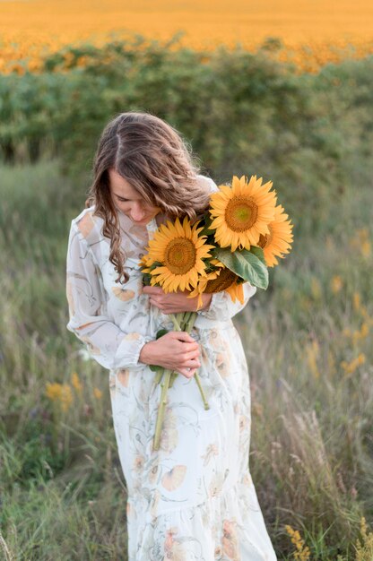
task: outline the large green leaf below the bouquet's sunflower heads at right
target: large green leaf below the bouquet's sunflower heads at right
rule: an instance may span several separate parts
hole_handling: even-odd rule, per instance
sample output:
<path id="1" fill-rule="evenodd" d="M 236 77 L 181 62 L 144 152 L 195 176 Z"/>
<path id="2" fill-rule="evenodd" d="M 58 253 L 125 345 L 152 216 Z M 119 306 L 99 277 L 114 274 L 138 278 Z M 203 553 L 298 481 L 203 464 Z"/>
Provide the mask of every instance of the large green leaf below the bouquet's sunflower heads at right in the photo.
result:
<path id="1" fill-rule="evenodd" d="M 256 253 L 260 255 L 259 251 Z M 268 269 L 259 256 L 253 252 L 242 249 L 231 252 L 230 248 L 219 247 L 213 251 L 214 256 L 224 263 L 230 271 L 235 272 L 239 277 L 247 280 L 259 289 L 268 288 Z"/>

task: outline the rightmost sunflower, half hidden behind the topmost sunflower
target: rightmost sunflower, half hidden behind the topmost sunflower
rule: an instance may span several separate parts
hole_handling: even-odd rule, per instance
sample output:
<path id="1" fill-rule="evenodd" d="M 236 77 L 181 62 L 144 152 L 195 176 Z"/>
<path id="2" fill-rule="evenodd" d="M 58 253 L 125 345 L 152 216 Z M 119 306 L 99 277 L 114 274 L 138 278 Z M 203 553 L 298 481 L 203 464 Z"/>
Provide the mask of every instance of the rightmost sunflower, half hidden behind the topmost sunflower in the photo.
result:
<path id="1" fill-rule="evenodd" d="M 291 250 L 293 224 L 288 214 L 284 213 L 282 205 L 279 204 L 274 209 L 274 220 L 268 224 L 269 234 L 262 234 L 257 245 L 262 247 L 265 254 L 265 263 L 268 267 L 278 264 L 277 257 L 283 257 Z"/>

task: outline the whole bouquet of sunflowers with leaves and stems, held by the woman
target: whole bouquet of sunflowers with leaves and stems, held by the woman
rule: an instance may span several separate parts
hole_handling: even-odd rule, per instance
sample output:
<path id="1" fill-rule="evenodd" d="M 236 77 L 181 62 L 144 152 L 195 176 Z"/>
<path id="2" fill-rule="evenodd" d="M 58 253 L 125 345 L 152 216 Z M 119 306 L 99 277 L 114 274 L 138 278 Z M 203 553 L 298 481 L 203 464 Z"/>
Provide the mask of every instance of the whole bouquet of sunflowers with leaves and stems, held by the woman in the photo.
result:
<path id="1" fill-rule="evenodd" d="M 239 299 L 243 304 L 245 282 L 268 287 L 268 267 L 290 252 L 293 228 L 282 205 L 277 205 L 272 186 L 272 181 L 262 185 L 262 177 L 233 176 L 231 185 L 221 185 L 211 194 L 202 218 L 195 223 L 187 217 L 183 222 L 168 220 L 154 233 L 140 262 L 144 284 L 198 297 L 195 312 L 170 314 L 176 331 L 192 331 L 204 292 L 225 290 L 233 302 Z M 157 338 L 166 332 L 160 330 Z M 157 372 L 154 384 L 161 383 L 162 388 L 153 441 L 153 449 L 158 450 L 167 392 L 178 373 L 156 366 L 152 369 Z M 199 375 L 194 377 L 204 409 L 209 409 Z"/>

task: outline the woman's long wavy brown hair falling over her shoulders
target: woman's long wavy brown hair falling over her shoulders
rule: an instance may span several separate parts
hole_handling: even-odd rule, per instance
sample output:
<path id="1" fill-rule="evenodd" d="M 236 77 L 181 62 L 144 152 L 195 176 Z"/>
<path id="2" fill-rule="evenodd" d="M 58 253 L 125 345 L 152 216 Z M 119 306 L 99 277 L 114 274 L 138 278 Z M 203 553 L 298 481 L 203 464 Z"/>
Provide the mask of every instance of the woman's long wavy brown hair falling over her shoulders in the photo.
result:
<path id="1" fill-rule="evenodd" d="M 120 246 L 117 209 L 109 189 L 108 169 L 124 177 L 143 199 L 169 218 L 194 220 L 209 201 L 209 189 L 198 181 L 200 166 L 189 142 L 171 125 L 148 112 L 128 111 L 114 117 L 100 136 L 93 161 L 93 182 L 85 207 L 95 205 L 103 219 L 102 233 L 110 239 L 109 261 L 128 280 L 126 255 Z"/>

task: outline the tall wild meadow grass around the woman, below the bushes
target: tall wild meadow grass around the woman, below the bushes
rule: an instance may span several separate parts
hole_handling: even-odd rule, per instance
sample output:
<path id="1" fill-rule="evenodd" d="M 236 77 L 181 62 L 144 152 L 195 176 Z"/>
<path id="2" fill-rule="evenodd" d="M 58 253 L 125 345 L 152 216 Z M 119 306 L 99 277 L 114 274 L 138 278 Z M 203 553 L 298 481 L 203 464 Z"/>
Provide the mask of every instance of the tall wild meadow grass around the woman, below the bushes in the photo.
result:
<path id="1" fill-rule="evenodd" d="M 283 560 L 373 558 L 371 171 L 351 164 L 343 192 L 323 194 L 317 233 L 295 228 L 270 289 L 236 320 L 250 372 L 250 469 Z M 67 235 L 86 186 L 56 160 L 2 166 L 0 176 L 0 551 L 124 561 L 108 373 L 65 328 Z M 54 383 L 70 388 L 65 406 L 48 399 Z"/>

